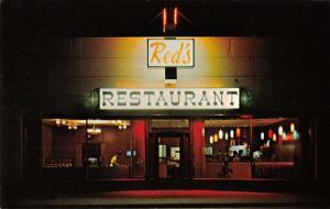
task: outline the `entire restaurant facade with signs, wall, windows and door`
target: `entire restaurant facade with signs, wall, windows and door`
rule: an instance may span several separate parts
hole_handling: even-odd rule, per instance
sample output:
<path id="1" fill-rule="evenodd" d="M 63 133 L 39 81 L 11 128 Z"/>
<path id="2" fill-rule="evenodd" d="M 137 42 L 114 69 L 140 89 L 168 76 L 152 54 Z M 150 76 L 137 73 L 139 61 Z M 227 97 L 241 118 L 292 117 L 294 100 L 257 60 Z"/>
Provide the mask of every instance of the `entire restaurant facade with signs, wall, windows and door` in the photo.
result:
<path id="1" fill-rule="evenodd" d="M 316 118 L 284 40 L 8 41 L 8 182 L 316 179 Z"/>

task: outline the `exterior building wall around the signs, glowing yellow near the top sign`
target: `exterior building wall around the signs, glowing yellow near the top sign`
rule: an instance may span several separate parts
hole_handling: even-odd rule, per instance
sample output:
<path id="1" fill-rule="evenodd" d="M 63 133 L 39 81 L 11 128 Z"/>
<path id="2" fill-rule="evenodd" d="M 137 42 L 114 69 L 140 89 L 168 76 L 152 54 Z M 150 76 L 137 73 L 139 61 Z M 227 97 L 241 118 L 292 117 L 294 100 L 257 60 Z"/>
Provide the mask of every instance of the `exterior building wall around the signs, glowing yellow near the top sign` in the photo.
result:
<path id="1" fill-rule="evenodd" d="M 3 169 L 4 179 L 23 180 L 31 167 L 37 173 L 41 128 L 33 124 L 40 122 L 41 117 L 92 116 L 87 97 L 95 88 L 166 87 L 164 68 L 146 67 L 146 40 L 8 38 L 2 52 L 3 120 L 7 123 L 3 128 L 7 140 L 2 144 L 13 152 L 2 154 L 3 167 L 8 168 Z M 194 40 L 196 65 L 177 69 L 177 88 L 245 88 L 254 96 L 254 106 L 242 108 L 235 114 L 300 116 L 305 110 L 310 111 L 309 103 L 299 100 L 301 95 L 296 96 L 308 80 L 299 80 L 300 64 L 296 64 L 296 56 L 300 54 L 287 45 L 287 41 L 271 37 Z M 306 88 L 305 92 L 312 92 L 312 88 Z M 122 114 L 130 116 L 129 112 Z"/>

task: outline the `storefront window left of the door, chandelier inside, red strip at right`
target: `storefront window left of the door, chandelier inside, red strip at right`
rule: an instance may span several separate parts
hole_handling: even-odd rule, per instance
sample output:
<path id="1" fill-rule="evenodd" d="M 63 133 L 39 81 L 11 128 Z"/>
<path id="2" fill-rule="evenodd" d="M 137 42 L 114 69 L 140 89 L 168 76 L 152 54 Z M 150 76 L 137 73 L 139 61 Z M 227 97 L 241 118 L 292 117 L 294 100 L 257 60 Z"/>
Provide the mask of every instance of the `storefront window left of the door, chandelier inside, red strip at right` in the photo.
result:
<path id="1" fill-rule="evenodd" d="M 87 179 L 144 177 L 145 121 L 43 119 L 42 125 L 43 167 L 52 170 L 45 174 L 65 169 L 67 177 Z"/>

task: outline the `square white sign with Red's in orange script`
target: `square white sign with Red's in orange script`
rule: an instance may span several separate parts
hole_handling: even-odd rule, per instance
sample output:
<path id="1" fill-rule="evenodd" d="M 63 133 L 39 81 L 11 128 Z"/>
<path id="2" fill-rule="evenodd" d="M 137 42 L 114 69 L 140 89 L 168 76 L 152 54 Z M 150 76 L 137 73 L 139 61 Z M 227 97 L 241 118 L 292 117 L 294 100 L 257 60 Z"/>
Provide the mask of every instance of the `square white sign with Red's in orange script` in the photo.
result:
<path id="1" fill-rule="evenodd" d="M 147 40 L 148 67 L 194 67 L 194 40 Z"/>

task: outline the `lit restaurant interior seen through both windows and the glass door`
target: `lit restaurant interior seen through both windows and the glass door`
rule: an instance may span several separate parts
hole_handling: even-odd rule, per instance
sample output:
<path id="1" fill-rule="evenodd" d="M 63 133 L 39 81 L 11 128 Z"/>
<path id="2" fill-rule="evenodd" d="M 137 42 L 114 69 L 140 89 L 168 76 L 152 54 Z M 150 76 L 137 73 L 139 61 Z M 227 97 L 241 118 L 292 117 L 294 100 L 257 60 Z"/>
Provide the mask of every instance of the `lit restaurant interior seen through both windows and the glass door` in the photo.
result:
<path id="1" fill-rule="evenodd" d="M 301 158 L 294 118 L 152 119 L 150 138 L 146 124 L 43 119 L 43 167 L 87 167 L 90 179 L 141 178 L 146 169 L 158 178 L 182 178 L 194 164 L 194 178 L 293 179 Z"/>

